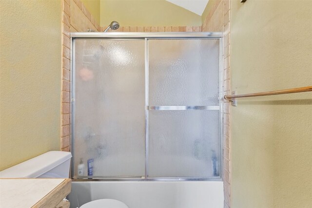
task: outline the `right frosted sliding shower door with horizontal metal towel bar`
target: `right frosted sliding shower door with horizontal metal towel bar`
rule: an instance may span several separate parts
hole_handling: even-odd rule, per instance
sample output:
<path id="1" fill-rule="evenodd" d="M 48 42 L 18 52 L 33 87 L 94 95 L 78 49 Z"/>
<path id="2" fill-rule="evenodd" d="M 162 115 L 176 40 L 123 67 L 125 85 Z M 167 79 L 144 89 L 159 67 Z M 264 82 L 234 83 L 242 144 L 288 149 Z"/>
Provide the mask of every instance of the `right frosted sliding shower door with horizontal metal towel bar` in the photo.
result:
<path id="1" fill-rule="evenodd" d="M 151 39 L 148 52 L 148 175 L 219 176 L 219 40 Z"/>

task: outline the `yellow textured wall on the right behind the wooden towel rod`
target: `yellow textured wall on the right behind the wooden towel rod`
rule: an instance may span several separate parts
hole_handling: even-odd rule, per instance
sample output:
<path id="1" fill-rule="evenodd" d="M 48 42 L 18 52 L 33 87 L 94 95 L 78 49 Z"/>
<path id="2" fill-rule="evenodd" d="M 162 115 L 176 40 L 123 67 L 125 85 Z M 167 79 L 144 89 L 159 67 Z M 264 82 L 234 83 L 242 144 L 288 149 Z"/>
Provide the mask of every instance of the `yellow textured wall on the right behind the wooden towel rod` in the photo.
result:
<path id="1" fill-rule="evenodd" d="M 232 90 L 312 85 L 312 1 L 231 1 Z M 232 207 L 312 207 L 312 93 L 232 107 Z"/>

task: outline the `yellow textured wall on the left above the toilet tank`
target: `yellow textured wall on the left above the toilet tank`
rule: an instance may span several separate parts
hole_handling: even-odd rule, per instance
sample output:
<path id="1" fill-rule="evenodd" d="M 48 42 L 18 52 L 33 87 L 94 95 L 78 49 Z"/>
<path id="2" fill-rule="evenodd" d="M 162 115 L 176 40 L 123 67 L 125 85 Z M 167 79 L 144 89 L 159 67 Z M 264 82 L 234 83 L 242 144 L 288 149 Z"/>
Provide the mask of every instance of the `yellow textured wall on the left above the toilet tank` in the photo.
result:
<path id="1" fill-rule="evenodd" d="M 60 149 L 61 1 L 0 1 L 0 170 Z"/>

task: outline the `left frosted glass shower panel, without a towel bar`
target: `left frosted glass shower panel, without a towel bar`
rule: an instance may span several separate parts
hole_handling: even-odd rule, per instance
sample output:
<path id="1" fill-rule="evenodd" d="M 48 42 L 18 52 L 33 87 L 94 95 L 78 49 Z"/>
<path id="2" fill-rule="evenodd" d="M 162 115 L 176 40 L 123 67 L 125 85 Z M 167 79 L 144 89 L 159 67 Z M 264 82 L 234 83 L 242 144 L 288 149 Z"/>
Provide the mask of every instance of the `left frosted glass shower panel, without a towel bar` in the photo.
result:
<path id="1" fill-rule="evenodd" d="M 145 174 L 144 40 L 75 40 L 74 175 Z"/>

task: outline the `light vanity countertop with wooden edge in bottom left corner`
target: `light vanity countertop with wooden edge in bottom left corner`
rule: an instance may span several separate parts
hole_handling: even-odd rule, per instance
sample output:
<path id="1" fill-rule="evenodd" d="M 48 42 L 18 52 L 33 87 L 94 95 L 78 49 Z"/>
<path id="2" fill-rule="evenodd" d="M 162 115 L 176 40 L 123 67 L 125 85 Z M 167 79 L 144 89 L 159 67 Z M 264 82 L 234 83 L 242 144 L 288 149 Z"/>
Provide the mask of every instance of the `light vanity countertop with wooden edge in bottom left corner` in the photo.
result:
<path id="1" fill-rule="evenodd" d="M 0 207 L 55 208 L 70 190 L 69 178 L 0 179 Z"/>

